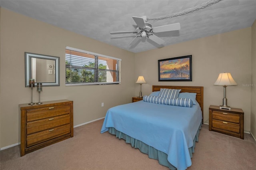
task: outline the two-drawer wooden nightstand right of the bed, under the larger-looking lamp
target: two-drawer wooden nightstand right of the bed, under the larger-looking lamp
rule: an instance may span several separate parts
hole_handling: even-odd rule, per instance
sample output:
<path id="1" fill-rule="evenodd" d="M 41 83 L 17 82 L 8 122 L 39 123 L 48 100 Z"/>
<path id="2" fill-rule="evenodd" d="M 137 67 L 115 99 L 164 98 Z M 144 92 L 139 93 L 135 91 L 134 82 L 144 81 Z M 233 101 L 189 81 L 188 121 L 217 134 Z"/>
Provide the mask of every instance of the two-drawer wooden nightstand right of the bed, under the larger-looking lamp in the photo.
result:
<path id="1" fill-rule="evenodd" d="M 238 108 L 209 107 L 209 130 L 244 139 L 244 111 Z"/>

